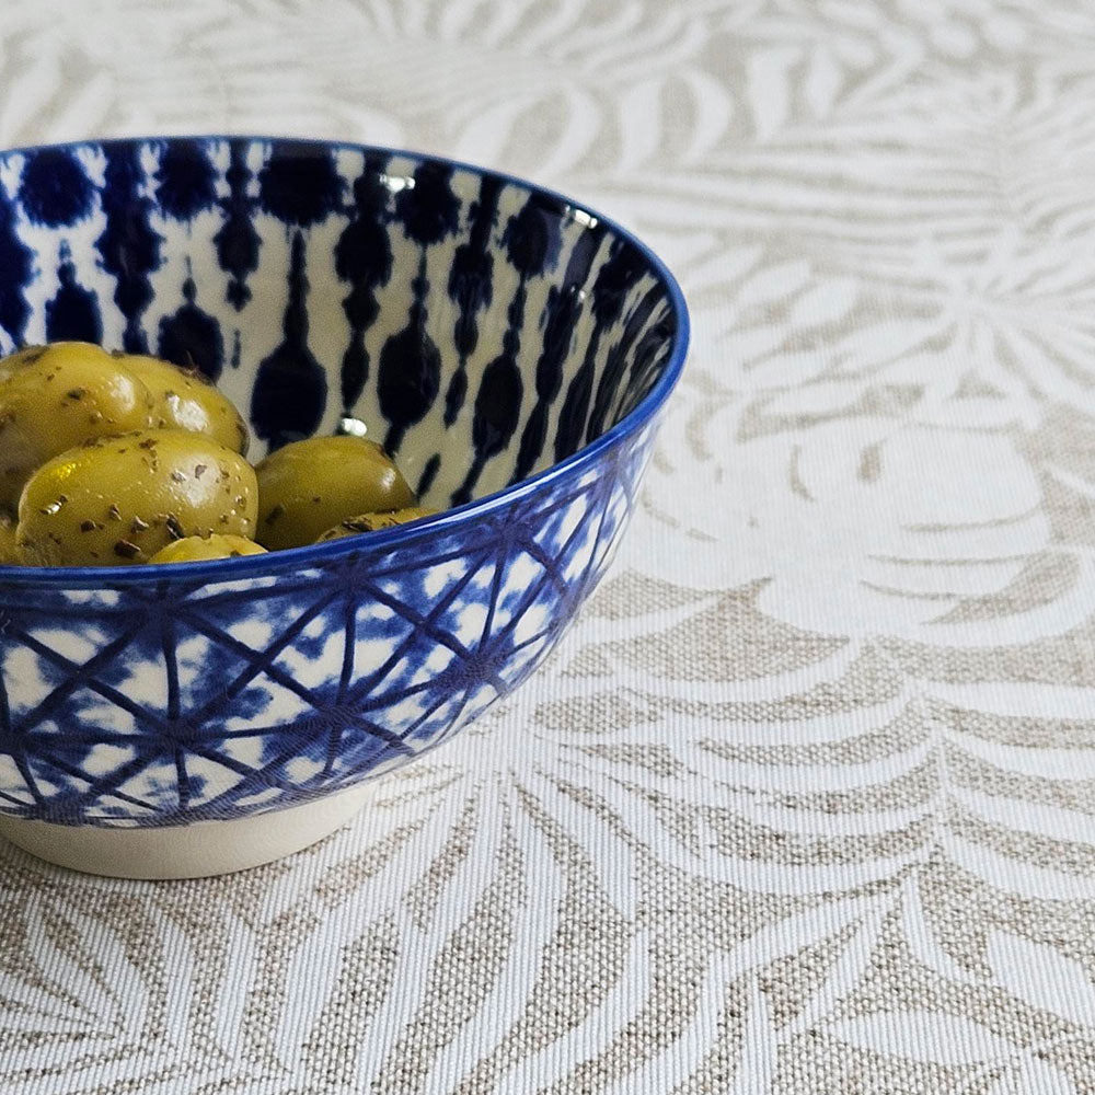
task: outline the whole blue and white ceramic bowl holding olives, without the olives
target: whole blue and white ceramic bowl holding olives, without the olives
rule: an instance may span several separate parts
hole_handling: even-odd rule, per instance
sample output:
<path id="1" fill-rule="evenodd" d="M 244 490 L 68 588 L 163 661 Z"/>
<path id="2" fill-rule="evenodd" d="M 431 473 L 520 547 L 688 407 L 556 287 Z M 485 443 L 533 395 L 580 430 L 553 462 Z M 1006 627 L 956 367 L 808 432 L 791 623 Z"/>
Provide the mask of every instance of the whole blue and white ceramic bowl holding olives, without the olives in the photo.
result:
<path id="1" fill-rule="evenodd" d="M 0 832 L 96 873 L 238 869 L 544 659 L 683 365 L 639 242 L 488 171 L 252 137 L 0 153 L 0 350 L 198 366 L 269 447 L 368 424 L 423 522 L 244 558 L 0 567 Z"/>

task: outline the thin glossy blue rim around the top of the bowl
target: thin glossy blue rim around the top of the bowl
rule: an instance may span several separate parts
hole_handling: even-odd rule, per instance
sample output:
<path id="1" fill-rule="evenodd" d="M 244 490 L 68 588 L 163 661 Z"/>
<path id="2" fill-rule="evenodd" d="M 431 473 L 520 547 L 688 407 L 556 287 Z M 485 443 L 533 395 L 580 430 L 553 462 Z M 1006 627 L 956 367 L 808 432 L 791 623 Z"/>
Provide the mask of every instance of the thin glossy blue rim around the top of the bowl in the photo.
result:
<path id="1" fill-rule="evenodd" d="M 390 551 L 420 540 L 424 537 L 443 534 L 450 527 L 463 523 L 469 518 L 486 516 L 527 495 L 549 486 L 553 481 L 568 475 L 580 474 L 589 464 L 595 463 L 604 452 L 619 445 L 625 438 L 638 433 L 665 405 L 670 393 L 677 387 L 691 339 L 691 322 L 684 293 L 677 278 L 670 273 L 665 262 L 630 229 L 624 228 L 612 217 L 604 216 L 584 201 L 542 186 L 531 180 L 522 178 L 506 171 L 486 168 L 457 160 L 451 157 L 437 155 L 433 152 L 415 151 L 413 149 L 393 148 L 387 145 L 371 145 L 361 141 L 326 139 L 322 137 L 297 137 L 292 135 L 263 134 L 164 134 L 139 137 L 88 137 L 70 141 L 49 141 L 41 145 L 22 145 L 12 148 L 0 148 L 0 160 L 12 155 L 36 152 L 43 149 L 79 149 L 104 148 L 110 146 L 139 146 L 149 143 L 170 143 L 175 141 L 232 141 L 243 140 L 251 143 L 293 145 L 325 148 L 333 150 L 349 150 L 355 152 L 380 152 L 391 157 L 402 157 L 420 162 L 441 163 L 457 171 L 473 175 L 491 175 L 509 186 L 522 189 L 530 195 L 539 195 L 566 210 L 578 210 L 587 217 L 596 219 L 619 239 L 625 240 L 648 264 L 650 273 L 665 286 L 671 311 L 677 321 L 669 356 L 665 368 L 653 388 L 643 399 L 627 412 L 614 426 L 607 429 L 600 437 L 587 442 L 564 460 L 557 461 L 527 479 L 520 480 L 484 495 L 471 502 L 445 509 L 439 514 L 419 518 L 408 525 L 397 525 L 389 529 L 380 529 L 369 534 L 369 552 Z M 55 586 L 61 588 L 104 587 L 116 588 L 119 585 L 147 584 L 149 581 L 182 580 L 194 585 L 210 585 L 219 581 L 237 581 L 245 578 L 261 578 L 284 570 L 307 570 L 311 566 L 330 563 L 347 557 L 360 548 L 354 543 L 356 538 L 345 537 L 330 540 L 325 543 L 306 544 L 301 548 L 288 548 L 281 551 L 265 552 L 258 555 L 242 555 L 234 558 L 201 560 L 182 566 L 177 563 L 148 563 L 143 566 L 13 566 L 0 565 L 0 588 L 12 586 L 34 587 Z"/>

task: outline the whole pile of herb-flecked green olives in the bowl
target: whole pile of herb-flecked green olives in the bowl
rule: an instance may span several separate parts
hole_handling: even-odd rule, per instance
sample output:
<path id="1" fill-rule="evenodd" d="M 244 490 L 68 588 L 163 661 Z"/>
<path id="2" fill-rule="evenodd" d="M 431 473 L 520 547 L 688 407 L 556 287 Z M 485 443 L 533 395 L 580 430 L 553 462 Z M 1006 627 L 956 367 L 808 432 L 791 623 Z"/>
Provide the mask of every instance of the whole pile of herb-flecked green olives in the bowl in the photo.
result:
<path id="1" fill-rule="evenodd" d="M 89 343 L 0 359 L 0 563 L 126 566 L 254 555 L 431 510 L 374 441 L 314 437 L 247 463 L 197 371 Z"/>

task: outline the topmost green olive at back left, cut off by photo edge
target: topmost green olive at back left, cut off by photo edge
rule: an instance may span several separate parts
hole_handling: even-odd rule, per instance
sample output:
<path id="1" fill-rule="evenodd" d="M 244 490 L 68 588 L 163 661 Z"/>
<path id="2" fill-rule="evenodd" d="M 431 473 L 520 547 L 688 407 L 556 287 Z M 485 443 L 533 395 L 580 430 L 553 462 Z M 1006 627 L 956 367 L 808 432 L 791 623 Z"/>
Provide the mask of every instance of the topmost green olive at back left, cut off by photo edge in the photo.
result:
<path id="1" fill-rule="evenodd" d="M 148 389 L 99 346 L 54 343 L 26 357 L 0 381 L 3 506 L 14 506 L 31 473 L 51 457 L 88 438 L 148 426 L 152 404 Z"/>

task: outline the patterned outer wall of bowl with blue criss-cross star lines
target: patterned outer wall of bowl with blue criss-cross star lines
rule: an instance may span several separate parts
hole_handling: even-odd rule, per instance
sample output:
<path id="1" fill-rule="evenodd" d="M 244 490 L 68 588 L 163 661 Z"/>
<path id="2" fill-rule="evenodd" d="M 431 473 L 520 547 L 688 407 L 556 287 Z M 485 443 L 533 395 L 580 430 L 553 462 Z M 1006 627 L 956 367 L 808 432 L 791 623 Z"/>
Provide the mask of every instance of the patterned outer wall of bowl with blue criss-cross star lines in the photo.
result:
<path id="1" fill-rule="evenodd" d="M 451 737 L 597 584 L 656 428 L 486 516 L 237 581 L 0 586 L 0 814 L 150 827 L 332 794 Z"/>

